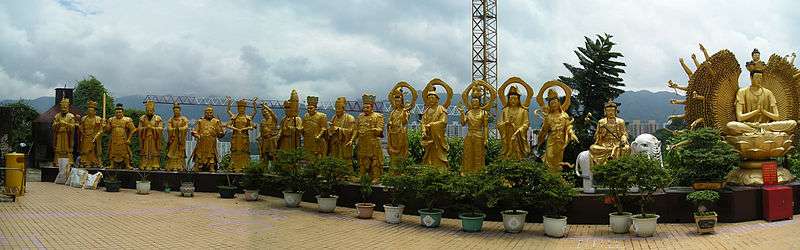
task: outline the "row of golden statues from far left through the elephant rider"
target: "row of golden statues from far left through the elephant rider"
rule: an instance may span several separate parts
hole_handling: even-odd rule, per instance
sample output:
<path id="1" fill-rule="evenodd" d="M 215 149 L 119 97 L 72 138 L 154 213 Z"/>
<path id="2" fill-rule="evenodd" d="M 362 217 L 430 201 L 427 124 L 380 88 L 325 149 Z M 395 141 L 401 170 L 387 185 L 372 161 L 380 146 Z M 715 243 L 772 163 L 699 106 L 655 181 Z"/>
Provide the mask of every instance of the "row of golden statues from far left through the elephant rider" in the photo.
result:
<path id="1" fill-rule="evenodd" d="M 527 96 L 524 101 L 522 93 L 516 85 L 525 88 Z M 436 86 L 446 91 L 446 99 L 440 103 L 436 93 Z M 559 87 L 564 92 L 563 103 L 558 93 L 552 89 Z M 508 89 L 508 92 L 505 90 Z M 545 91 L 547 95 L 544 96 Z M 406 95 L 410 93 L 411 101 L 406 102 Z M 422 132 L 421 144 L 424 149 L 423 164 L 447 168 L 448 144 L 445 136 L 447 126 L 447 108 L 453 97 L 453 90 L 440 79 L 431 80 L 423 89 L 425 105 L 420 121 Z M 489 134 L 489 109 L 494 107 L 495 99 L 502 104 L 502 112 L 498 117 L 497 129 L 502 141 L 502 154 L 504 159 L 519 160 L 526 158 L 531 151 L 528 142 L 528 129 L 530 118 L 528 110 L 533 91 L 531 86 L 518 77 L 512 77 L 503 83 L 499 89 L 482 80 L 472 82 L 462 94 L 462 105 L 457 110 L 460 113 L 460 123 L 467 126 L 467 135 L 464 139 L 463 172 L 476 172 L 483 168 L 486 156 L 486 145 Z M 559 81 L 548 81 L 536 95 L 536 101 L 541 109 L 534 113 L 544 122 L 538 134 L 539 142 L 545 143 L 545 154 L 542 160 L 552 171 L 561 171 L 564 166 L 564 149 L 570 140 L 577 141 L 572 129 L 573 119 L 566 110 L 569 108 L 572 90 Z M 388 153 L 391 161 L 398 161 L 409 156 L 407 128 L 409 114 L 417 99 L 417 91 L 406 82 L 397 83 L 388 95 L 392 106 L 389 113 L 388 126 L 386 126 Z M 228 98 L 227 112 L 230 119 L 223 123 L 214 116 L 211 106 L 205 109 L 204 117 L 196 122 L 191 135 L 197 139 L 197 144 L 190 158 L 194 162 L 194 171 L 214 171 L 219 162 L 217 153 L 217 140 L 223 137 L 226 130 L 232 131 L 231 139 L 231 166 L 236 172 L 250 163 L 249 130 L 259 129 L 260 136 L 259 154 L 263 161 L 273 159 L 276 150 L 292 150 L 304 148 L 316 157 L 333 156 L 345 160 L 353 158 L 353 147 L 356 147 L 355 156 L 358 159 L 360 173 L 369 172 L 373 178 L 378 178 L 383 169 L 383 151 L 381 140 L 384 136 L 384 117 L 381 113 L 374 112 L 375 96 L 364 94 L 362 96 L 363 112 L 358 118 L 345 112 L 346 100 L 339 97 L 336 100 L 335 115 L 328 120 L 322 112 L 317 112 L 318 97 L 307 97 L 307 112 L 304 117 L 299 117 L 299 97 L 292 91 L 290 98 L 283 103 L 286 111 L 285 117 L 278 121 L 275 113 L 266 105 L 261 105 L 263 119 L 259 126 L 254 124 L 256 115 L 246 114 L 249 103 L 239 100 L 236 103 L 238 113 L 231 112 L 231 99 Z M 546 103 L 545 103 L 546 102 Z M 464 107 L 466 106 L 466 107 Z M 613 102 L 607 105 L 607 117 L 598 122 L 605 129 L 598 129 L 596 143 L 590 148 L 592 160 L 595 164 L 602 163 L 610 158 L 617 157 L 629 149 L 627 130 L 622 119 L 616 118 L 617 106 Z M 100 166 L 100 153 L 102 152 L 100 140 L 102 133 L 110 134 L 108 142 L 108 158 L 110 168 L 131 168 L 130 140 L 134 133 L 138 133 L 140 140 L 141 169 L 160 169 L 159 160 L 161 152 L 162 131 L 166 130 L 167 161 L 165 168 L 169 171 L 186 169 L 186 135 L 189 120 L 181 115 L 181 107 L 173 105 L 174 116 L 166 124 L 160 116 L 155 114 L 155 103 L 149 100 L 145 104 L 146 114 L 139 118 L 139 124 L 134 125 L 129 117 L 125 117 L 123 107 L 117 104 L 114 116 L 104 120 L 96 115 L 97 103 L 90 101 L 86 116 L 78 123 L 75 116 L 68 112 L 69 100 L 61 102 L 61 113 L 56 114 L 53 122 L 55 158 L 72 159 L 72 133 L 78 130 L 80 164 L 83 166 Z M 256 100 L 252 107 L 257 107 Z M 302 141 L 301 141 L 302 138 Z M 301 145 L 302 144 L 302 145 Z M 540 144 L 541 145 L 541 144 Z"/>

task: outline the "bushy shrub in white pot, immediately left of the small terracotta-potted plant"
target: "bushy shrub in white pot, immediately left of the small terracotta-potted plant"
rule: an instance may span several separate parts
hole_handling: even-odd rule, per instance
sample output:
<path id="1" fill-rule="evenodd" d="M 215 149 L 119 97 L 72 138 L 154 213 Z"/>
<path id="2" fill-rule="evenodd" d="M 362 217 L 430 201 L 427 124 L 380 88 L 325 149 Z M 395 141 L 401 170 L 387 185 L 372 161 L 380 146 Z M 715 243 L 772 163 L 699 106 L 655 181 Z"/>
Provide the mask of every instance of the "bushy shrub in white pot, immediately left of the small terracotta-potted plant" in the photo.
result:
<path id="1" fill-rule="evenodd" d="M 310 186 L 317 193 L 317 205 L 322 213 L 332 213 L 336 210 L 336 201 L 339 196 L 334 195 L 335 189 L 346 181 L 352 168 L 339 158 L 320 158 L 308 168 L 312 179 Z"/>

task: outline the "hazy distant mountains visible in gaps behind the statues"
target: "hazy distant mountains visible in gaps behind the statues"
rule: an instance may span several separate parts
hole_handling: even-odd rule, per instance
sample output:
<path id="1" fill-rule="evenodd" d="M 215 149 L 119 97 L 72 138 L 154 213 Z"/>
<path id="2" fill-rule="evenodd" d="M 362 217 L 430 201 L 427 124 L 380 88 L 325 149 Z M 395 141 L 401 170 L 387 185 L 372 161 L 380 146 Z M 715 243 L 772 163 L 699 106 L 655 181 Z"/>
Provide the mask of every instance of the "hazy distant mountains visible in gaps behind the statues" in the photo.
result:
<path id="1" fill-rule="evenodd" d="M 422 97 L 422 95 L 420 95 Z M 135 109 L 144 109 L 144 101 L 145 96 L 142 95 L 132 95 L 132 96 L 123 96 L 118 97 L 115 102 L 122 103 L 126 108 L 135 108 Z M 454 94 L 452 105 L 456 105 L 460 102 L 461 95 Z M 421 104 L 423 98 L 418 98 L 417 103 Z M 672 105 L 669 103 L 671 99 L 681 99 L 681 97 L 676 97 L 674 93 L 660 91 L 660 92 L 650 92 L 647 90 L 640 90 L 640 91 L 626 91 L 622 95 L 620 95 L 616 101 L 621 103 L 620 106 L 620 116 L 624 118 L 626 121 L 632 120 L 656 120 L 659 124 L 666 122 L 667 117 L 672 114 L 680 114 L 683 113 L 683 107 L 679 105 Z M 23 100 L 26 101 L 29 105 L 31 105 L 34 109 L 38 112 L 45 112 L 50 107 L 53 106 L 54 100 L 52 96 L 44 96 L 39 97 L 33 100 Z M 3 100 L 0 103 L 9 103 L 9 102 L 16 102 L 16 100 Z M 537 108 L 536 102 L 533 101 L 531 105 L 532 109 Z M 184 116 L 188 117 L 191 120 L 198 119 L 203 116 L 203 110 L 205 106 L 196 106 L 196 105 L 184 105 L 182 107 L 182 113 Z M 234 112 L 235 112 L 234 107 Z M 304 107 L 301 107 L 304 110 Z M 228 115 L 225 112 L 224 107 L 215 107 L 214 108 L 215 114 L 217 117 L 222 117 L 223 120 L 226 120 Z M 274 110 L 276 115 L 280 118 L 283 117 L 283 110 L 276 109 Z M 159 114 L 163 119 L 169 119 L 172 117 L 172 105 L 169 104 L 160 104 L 156 106 L 156 113 Z M 252 113 L 252 109 L 248 109 L 248 113 Z M 304 111 L 301 113 L 305 113 Z M 328 117 L 333 115 L 333 111 L 325 111 L 328 113 Z M 352 113 L 356 115 L 355 113 Z M 532 114 L 531 114 L 532 115 Z M 533 117 L 531 117 L 533 118 Z M 256 122 L 261 121 L 261 114 L 256 117 Z M 414 118 L 412 118 L 414 120 Z M 532 119 L 534 120 L 534 119 Z M 535 123 L 539 123 L 540 119 L 535 119 Z M 534 125 L 536 126 L 536 125 Z"/>

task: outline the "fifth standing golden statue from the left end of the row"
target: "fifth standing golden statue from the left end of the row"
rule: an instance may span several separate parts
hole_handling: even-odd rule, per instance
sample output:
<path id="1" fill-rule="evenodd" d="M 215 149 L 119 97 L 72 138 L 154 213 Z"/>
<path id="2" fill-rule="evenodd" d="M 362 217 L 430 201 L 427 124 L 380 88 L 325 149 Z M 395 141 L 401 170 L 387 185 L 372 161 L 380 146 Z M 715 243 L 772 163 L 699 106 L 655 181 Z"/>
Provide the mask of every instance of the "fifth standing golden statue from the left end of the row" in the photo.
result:
<path id="1" fill-rule="evenodd" d="M 167 122 L 167 171 L 186 171 L 186 131 L 189 119 L 181 114 L 181 106 L 172 104 L 172 119 Z"/>

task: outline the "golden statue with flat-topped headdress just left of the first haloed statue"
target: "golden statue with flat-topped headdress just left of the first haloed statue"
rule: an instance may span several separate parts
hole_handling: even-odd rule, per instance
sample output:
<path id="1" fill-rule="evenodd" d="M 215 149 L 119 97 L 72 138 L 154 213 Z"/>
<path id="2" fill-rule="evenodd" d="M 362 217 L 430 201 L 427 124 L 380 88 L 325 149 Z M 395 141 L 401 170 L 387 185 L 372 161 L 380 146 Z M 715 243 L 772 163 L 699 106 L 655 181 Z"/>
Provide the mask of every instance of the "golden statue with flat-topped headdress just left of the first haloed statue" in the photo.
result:
<path id="1" fill-rule="evenodd" d="M 364 94 L 361 99 L 363 112 L 358 115 L 356 130 L 346 145 L 356 145 L 359 174 L 364 176 L 369 171 L 374 183 L 383 174 L 383 150 L 380 140 L 383 137 L 383 115 L 373 111 L 374 95 Z"/>

